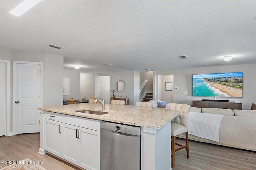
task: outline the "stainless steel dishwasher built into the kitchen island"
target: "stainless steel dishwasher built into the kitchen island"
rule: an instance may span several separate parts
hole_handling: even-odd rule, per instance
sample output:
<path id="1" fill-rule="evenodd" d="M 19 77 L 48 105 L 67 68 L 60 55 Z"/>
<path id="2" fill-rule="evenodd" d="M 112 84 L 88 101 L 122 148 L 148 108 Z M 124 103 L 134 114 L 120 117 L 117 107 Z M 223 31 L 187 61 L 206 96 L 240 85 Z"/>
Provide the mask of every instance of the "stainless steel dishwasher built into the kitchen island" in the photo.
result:
<path id="1" fill-rule="evenodd" d="M 102 121 L 101 170 L 140 170 L 140 127 Z"/>

